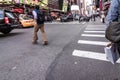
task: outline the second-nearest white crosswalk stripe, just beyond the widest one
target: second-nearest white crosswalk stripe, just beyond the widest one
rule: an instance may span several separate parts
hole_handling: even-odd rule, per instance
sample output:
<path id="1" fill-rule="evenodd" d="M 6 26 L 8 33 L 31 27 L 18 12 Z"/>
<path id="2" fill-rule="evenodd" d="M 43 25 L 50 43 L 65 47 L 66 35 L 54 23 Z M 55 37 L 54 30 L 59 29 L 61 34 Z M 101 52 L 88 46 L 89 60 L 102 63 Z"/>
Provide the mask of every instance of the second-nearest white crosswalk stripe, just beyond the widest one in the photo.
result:
<path id="1" fill-rule="evenodd" d="M 102 45 L 105 46 L 109 42 L 101 42 L 101 41 L 88 41 L 88 40 L 78 40 L 79 44 L 92 44 L 92 45 Z"/>

